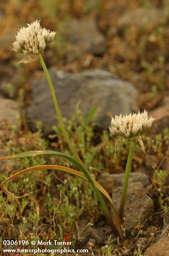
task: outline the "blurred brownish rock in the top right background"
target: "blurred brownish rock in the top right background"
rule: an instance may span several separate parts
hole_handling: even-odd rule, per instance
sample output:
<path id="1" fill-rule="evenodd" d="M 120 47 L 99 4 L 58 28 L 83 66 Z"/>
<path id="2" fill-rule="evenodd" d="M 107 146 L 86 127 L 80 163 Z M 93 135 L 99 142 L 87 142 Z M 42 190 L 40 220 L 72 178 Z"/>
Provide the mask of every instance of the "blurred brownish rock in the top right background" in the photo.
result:
<path id="1" fill-rule="evenodd" d="M 139 7 L 134 10 L 126 11 L 118 20 L 117 27 L 136 26 L 138 28 L 153 29 L 163 25 L 166 21 L 166 14 L 162 8 Z"/>

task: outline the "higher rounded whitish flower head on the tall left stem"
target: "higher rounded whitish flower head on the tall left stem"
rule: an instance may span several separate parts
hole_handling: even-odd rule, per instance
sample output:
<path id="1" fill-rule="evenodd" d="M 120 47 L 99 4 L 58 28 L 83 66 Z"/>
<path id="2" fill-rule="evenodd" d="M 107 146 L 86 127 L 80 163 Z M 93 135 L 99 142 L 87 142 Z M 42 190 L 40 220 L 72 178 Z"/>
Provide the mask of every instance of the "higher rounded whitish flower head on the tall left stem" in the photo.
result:
<path id="1" fill-rule="evenodd" d="M 56 32 L 50 32 L 50 30 L 42 28 L 39 22 L 36 20 L 31 24 L 27 24 L 28 27 L 20 28 L 16 35 L 13 50 L 26 56 L 19 63 L 37 60 L 39 54 L 43 53 L 46 45 L 55 37 Z"/>

